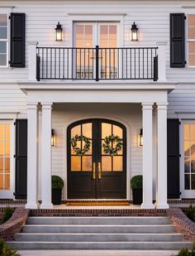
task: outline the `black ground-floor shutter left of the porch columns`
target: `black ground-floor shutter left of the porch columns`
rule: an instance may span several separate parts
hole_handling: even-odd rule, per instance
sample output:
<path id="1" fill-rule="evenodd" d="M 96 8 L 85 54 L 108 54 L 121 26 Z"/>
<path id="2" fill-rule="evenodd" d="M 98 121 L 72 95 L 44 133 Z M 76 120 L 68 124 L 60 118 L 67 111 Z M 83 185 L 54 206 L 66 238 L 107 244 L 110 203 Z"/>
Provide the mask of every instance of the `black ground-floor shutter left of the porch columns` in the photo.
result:
<path id="1" fill-rule="evenodd" d="M 27 120 L 16 120 L 16 186 L 15 198 L 26 199 L 27 188 Z"/>

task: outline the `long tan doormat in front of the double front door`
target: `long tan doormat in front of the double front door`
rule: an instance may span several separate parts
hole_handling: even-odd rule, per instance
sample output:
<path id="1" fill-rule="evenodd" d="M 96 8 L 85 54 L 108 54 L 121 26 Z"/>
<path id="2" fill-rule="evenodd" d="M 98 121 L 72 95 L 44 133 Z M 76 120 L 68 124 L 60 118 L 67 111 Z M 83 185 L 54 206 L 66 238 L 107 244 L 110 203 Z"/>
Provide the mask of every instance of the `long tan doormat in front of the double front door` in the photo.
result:
<path id="1" fill-rule="evenodd" d="M 71 206 L 91 206 L 91 205 L 131 205 L 127 201 L 70 201 L 66 205 Z"/>

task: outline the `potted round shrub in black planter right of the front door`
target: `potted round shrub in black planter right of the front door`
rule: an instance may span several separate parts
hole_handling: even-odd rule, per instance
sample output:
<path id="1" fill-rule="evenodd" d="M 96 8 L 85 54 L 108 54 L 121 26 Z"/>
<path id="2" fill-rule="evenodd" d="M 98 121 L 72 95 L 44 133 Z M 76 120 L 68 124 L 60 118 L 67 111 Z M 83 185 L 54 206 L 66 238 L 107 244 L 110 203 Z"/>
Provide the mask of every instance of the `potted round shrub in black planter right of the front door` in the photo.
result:
<path id="1" fill-rule="evenodd" d="M 136 175 L 131 178 L 131 189 L 133 195 L 133 204 L 140 205 L 143 201 L 143 176 Z"/>

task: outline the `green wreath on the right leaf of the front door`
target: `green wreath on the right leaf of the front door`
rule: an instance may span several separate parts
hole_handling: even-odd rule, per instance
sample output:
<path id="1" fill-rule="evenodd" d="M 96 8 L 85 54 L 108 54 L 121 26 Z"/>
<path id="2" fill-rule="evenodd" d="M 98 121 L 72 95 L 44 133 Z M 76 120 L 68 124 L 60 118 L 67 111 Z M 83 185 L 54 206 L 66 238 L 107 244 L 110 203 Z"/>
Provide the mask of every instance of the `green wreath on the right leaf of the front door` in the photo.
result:
<path id="1" fill-rule="evenodd" d="M 112 142 L 116 143 L 116 147 L 112 147 Z M 117 156 L 118 152 L 122 149 L 122 139 L 119 136 L 109 135 L 104 138 L 104 143 L 102 144 L 103 152 L 109 156 Z"/>

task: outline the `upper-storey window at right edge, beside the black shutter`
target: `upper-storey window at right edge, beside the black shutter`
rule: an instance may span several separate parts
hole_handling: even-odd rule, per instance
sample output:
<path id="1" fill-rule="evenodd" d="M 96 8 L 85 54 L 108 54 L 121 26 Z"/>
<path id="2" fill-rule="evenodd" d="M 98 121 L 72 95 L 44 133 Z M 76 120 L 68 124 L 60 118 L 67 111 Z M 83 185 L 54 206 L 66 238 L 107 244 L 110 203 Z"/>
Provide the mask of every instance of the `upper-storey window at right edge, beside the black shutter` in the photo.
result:
<path id="1" fill-rule="evenodd" d="M 195 66 L 195 14 L 188 14 L 188 65 Z"/>

